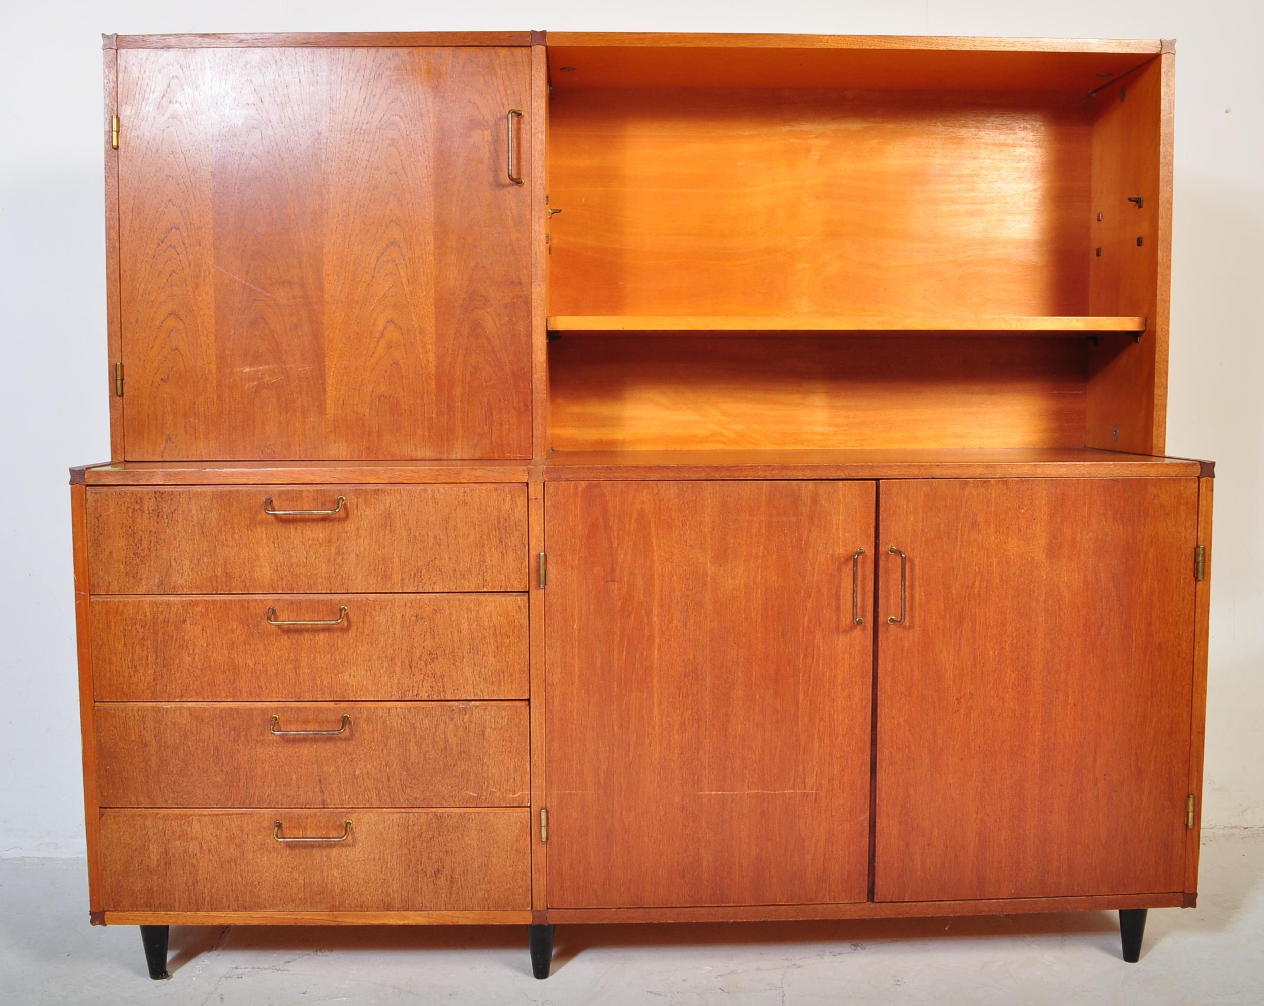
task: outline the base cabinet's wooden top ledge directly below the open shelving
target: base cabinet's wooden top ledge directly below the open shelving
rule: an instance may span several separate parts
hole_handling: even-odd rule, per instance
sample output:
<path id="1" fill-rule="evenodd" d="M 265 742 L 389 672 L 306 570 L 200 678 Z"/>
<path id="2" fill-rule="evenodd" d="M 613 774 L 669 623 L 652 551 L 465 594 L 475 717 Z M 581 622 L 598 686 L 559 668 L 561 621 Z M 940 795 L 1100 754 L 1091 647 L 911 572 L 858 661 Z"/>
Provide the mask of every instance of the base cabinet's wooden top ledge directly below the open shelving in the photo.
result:
<path id="1" fill-rule="evenodd" d="M 549 482 L 643 479 L 1174 478 L 1202 463 L 1088 447 L 559 451 Z"/>

